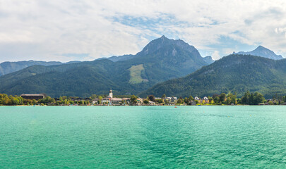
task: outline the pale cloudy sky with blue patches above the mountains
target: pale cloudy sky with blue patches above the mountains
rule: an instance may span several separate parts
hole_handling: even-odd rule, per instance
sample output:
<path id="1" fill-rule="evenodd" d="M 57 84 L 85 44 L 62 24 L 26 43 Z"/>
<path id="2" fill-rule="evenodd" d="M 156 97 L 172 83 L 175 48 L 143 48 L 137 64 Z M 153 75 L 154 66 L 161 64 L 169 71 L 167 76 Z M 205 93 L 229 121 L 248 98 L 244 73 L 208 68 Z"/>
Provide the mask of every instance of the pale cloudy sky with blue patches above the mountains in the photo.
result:
<path id="1" fill-rule="evenodd" d="M 136 54 L 165 35 L 218 60 L 258 45 L 286 57 L 284 0 L 0 0 L 0 63 Z"/>

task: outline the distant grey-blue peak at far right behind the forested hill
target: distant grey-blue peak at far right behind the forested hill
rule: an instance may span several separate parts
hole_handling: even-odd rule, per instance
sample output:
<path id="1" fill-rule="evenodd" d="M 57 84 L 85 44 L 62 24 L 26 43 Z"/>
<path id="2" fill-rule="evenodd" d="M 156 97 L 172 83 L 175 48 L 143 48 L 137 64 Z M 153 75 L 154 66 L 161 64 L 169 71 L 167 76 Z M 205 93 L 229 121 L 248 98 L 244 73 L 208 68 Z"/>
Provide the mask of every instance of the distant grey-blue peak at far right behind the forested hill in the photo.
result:
<path id="1" fill-rule="evenodd" d="M 243 54 L 243 55 L 253 55 L 253 56 L 261 56 L 263 58 L 271 58 L 274 60 L 280 60 L 283 59 L 281 55 L 276 55 L 274 51 L 270 51 L 269 49 L 263 47 L 263 46 L 258 46 L 254 51 L 239 51 L 238 53 L 234 54 Z"/>

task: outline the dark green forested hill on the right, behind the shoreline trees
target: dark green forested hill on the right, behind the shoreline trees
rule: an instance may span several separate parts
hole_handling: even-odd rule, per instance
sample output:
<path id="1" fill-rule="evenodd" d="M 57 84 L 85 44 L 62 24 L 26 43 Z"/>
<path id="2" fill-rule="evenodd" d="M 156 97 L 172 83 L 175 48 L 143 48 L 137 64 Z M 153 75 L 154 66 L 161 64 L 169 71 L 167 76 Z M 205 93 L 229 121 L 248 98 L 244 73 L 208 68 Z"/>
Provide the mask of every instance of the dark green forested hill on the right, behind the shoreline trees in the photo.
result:
<path id="1" fill-rule="evenodd" d="M 222 92 L 261 92 L 266 97 L 286 94 L 286 59 L 274 61 L 258 56 L 230 55 L 186 77 L 151 87 L 141 96 L 212 96 Z"/>

